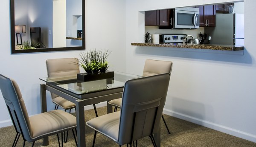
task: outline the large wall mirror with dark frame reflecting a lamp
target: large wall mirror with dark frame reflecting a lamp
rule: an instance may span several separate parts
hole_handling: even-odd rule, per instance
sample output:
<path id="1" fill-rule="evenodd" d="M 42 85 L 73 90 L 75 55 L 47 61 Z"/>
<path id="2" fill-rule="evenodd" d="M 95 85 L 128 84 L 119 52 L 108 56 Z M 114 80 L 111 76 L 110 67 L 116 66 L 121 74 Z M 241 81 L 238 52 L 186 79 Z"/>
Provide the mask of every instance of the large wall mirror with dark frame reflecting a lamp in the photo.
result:
<path id="1" fill-rule="evenodd" d="M 85 49 L 85 0 L 10 0 L 12 54 Z"/>

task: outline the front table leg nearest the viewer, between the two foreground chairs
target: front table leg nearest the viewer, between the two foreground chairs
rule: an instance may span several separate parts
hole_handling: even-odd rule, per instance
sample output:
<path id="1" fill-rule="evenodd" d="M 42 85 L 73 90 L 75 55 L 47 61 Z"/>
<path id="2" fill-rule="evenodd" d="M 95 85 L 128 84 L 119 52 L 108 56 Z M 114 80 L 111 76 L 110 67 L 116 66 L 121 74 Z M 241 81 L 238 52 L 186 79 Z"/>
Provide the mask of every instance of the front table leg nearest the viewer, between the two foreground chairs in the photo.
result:
<path id="1" fill-rule="evenodd" d="M 84 104 L 82 100 L 76 100 L 76 129 L 78 147 L 85 147 L 85 123 Z"/>

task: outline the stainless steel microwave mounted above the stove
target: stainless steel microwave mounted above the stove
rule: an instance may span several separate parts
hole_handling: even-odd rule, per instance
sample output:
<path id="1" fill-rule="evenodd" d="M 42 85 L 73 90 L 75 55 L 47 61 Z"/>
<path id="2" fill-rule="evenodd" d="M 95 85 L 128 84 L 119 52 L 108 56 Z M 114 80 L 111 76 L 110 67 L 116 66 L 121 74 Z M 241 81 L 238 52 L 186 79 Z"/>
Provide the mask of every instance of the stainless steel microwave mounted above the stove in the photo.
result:
<path id="1" fill-rule="evenodd" d="M 184 7 L 172 9 L 170 22 L 173 29 L 199 28 L 199 8 Z"/>

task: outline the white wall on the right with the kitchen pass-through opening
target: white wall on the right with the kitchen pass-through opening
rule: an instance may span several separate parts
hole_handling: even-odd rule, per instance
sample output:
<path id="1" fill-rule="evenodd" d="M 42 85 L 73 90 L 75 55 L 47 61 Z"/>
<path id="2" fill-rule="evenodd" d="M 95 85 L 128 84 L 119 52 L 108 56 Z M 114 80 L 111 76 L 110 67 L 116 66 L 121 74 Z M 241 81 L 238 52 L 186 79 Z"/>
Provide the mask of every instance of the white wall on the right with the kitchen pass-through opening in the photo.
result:
<path id="1" fill-rule="evenodd" d="M 231 0 L 127 0 L 127 72 L 142 74 L 146 58 L 172 61 L 164 113 L 256 142 L 255 0 L 244 2 L 243 55 L 131 46 L 144 41 L 144 14 L 139 11 L 224 2 Z"/>

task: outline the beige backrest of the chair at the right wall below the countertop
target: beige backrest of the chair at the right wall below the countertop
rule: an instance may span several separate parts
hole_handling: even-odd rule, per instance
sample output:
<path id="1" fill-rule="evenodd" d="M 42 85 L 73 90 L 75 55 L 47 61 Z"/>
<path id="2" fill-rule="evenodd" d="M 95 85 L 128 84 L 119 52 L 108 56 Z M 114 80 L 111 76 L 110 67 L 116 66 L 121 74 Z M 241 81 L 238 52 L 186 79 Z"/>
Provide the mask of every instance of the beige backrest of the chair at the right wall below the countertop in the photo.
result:
<path id="1" fill-rule="evenodd" d="M 143 76 L 152 76 L 160 73 L 171 73 L 172 62 L 146 59 Z"/>

